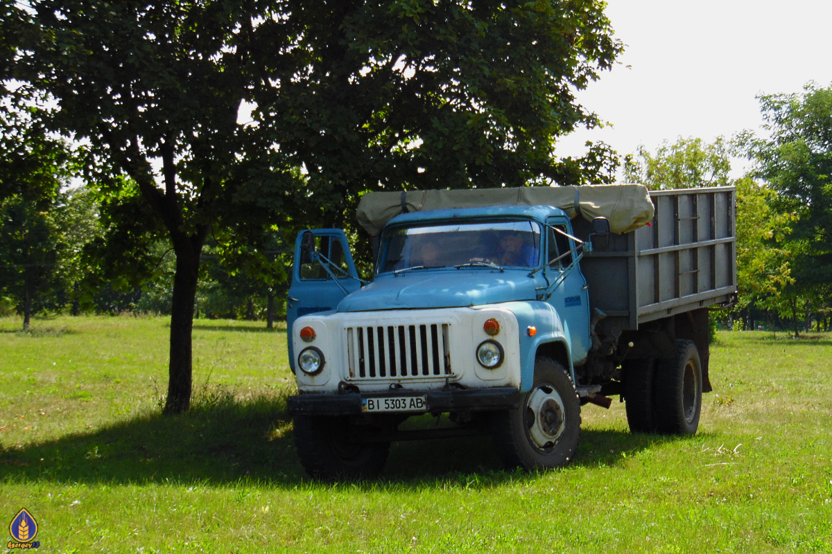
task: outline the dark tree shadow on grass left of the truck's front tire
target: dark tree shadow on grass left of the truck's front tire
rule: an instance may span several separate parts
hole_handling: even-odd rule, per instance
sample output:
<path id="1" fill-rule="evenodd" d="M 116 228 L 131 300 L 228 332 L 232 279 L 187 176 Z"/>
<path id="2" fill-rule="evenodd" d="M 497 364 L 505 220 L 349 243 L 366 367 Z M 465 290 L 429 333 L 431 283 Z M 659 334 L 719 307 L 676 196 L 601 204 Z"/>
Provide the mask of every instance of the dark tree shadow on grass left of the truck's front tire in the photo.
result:
<path id="1" fill-rule="evenodd" d="M 146 483 L 302 475 L 285 398 L 214 399 L 182 415 L 146 414 L 87 434 L 0 449 L 0 482 L 19 476 L 56 482 Z"/>

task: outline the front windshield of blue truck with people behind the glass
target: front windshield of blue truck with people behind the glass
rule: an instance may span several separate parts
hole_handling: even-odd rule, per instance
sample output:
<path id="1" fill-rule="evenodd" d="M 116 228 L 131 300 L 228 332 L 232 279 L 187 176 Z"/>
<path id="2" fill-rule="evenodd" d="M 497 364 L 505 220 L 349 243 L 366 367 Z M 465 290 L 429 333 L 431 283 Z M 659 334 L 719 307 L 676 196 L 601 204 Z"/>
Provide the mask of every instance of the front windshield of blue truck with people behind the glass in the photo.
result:
<path id="1" fill-rule="evenodd" d="M 384 233 L 379 272 L 434 267 L 537 267 L 532 221 L 420 224 Z"/>

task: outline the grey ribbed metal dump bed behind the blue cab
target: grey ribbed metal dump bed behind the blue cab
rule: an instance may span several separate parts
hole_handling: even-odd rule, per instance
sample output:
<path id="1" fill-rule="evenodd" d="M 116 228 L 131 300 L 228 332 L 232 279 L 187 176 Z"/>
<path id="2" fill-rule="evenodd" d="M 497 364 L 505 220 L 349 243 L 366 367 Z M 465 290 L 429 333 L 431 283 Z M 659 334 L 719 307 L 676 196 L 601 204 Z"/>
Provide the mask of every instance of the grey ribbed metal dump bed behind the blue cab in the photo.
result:
<path id="1" fill-rule="evenodd" d="M 656 211 L 644 227 L 614 234 L 610 248 L 587 252 L 581 268 L 604 326 L 639 324 L 727 304 L 736 292 L 735 189 L 651 191 Z M 588 224 L 572 222 L 579 237 Z"/>

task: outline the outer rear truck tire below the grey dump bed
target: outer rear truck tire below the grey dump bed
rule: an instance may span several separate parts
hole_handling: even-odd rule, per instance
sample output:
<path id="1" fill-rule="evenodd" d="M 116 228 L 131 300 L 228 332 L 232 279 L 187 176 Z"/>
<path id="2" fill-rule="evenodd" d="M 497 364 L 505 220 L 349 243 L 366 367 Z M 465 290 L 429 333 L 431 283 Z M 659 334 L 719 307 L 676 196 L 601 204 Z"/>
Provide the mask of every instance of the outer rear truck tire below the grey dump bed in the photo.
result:
<path id="1" fill-rule="evenodd" d="M 656 368 L 656 429 L 695 434 L 702 409 L 702 365 L 693 341 L 676 341 L 676 358 Z"/>

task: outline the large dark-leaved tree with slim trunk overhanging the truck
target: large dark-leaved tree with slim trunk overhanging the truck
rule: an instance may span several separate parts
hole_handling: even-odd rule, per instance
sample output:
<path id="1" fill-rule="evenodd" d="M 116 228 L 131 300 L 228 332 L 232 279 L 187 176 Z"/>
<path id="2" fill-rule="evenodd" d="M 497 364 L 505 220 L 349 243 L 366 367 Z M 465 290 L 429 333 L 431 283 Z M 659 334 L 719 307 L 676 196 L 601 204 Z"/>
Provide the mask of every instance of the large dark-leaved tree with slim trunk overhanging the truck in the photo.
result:
<path id="1" fill-rule="evenodd" d="M 598 123 L 574 91 L 622 50 L 597 0 L 28 5 L 4 5 L 12 75 L 89 141 L 108 265 L 139 279 L 153 241 L 176 252 L 166 413 L 190 404 L 213 226 L 338 224 L 367 189 L 562 182 L 557 136 Z"/>

